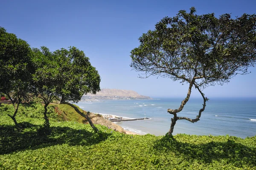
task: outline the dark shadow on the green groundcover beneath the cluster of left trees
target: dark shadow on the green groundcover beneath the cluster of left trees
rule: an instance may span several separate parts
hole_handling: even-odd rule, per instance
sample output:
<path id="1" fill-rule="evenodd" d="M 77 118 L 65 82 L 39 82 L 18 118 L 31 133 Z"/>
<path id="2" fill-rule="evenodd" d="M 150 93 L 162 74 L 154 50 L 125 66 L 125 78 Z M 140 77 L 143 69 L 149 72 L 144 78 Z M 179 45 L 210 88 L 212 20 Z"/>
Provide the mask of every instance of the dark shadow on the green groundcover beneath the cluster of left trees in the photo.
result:
<path id="1" fill-rule="evenodd" d="M 90 146 L 104 141 L 109 133 L 92 133 L 87 130 L 75 130 L 70 127 L 50 127 L 50 135 L 42 135 L 42 126 L 29 122 L 20 123 L 25 129 L 18 130 L 15 126 L 0 125 L 0 155 L 19 151 L 35 150 L 56 144 L 71 146 Z"/>

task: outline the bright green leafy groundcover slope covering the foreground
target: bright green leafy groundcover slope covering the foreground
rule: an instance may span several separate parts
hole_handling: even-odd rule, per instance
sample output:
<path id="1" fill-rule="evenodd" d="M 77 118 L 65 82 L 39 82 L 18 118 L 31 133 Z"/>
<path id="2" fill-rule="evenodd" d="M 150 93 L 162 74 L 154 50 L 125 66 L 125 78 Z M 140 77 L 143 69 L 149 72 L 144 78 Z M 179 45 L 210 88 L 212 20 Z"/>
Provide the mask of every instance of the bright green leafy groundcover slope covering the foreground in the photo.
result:
<path id="1" fill-rule="evenodd" d="M 165 136 L 124 135 L 100 125 L 96 134 L 90 125 L 59 121 L 56 113 L 50 114 L 52 134 L 44 136 L 39 107 L 21 109 L 17 121 L 26 126 L 23 131 L 7 116 L 11 108 L 0 107 L 0 169 L 256 169 L 256 136 L 180 134 L 174 143 Z"/>

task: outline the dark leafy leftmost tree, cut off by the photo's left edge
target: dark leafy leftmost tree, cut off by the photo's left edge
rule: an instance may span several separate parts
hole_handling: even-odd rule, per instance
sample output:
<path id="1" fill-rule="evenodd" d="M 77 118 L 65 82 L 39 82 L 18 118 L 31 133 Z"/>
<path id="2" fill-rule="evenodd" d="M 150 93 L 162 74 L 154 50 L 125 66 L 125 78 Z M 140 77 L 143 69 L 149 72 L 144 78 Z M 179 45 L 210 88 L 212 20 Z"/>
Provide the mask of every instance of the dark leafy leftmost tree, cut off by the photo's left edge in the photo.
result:
<path id="1" fill-rule="evenodd" d="M 16 121 L 20 99 L 30 88 L 33 66 L 31 49 L 26 41 L 7 33 L 0 27 L 0 92 L 6 94 L 15 108 L 13 115 L 9 115 L 18 128 L 22 128 Z M 14 101 L 11 94 L 16 94 Z"/>

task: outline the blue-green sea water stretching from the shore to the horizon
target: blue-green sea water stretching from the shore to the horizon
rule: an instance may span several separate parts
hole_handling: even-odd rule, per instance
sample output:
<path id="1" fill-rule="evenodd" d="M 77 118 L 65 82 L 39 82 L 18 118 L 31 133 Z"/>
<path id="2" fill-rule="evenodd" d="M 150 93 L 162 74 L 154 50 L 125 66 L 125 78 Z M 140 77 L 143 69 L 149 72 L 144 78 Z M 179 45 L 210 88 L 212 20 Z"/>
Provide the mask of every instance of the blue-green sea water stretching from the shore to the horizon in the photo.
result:
<path id="1" fill-rule="evenodd" d="M 149 120 L 117 122 L 126 130 L 141 134 L 165 135 L 169 131 L 172 115 L 167 109 L 177 109 L 182 98 L 160 98 L 159 100 L 99 100 L 80 101 L 81 109 L 103 114 Z M 195 118 L 201 109 L 201 98 L 191 98 L 178 116 Z M 200 121 L 191 123 L 178 120 L 177 133 L 195 135 L 233 135 L 241 138 L 256 135 L 256 98 L 211 98 L 207 102 Z"/>

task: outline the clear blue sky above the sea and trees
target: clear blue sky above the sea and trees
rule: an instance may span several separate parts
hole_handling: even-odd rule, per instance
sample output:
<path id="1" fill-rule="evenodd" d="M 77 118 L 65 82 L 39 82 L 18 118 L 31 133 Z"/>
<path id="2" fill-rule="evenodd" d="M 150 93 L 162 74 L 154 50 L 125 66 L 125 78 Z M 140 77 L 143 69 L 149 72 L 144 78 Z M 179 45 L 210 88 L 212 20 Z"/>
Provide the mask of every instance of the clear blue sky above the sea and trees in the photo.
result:
<path id="1" fill-rule="evenodd" d="M 54 51 L 76 46 L 101 75 L 101 88 L 129 89 L 151 97 L 185 97 L 187 85 L 167 78 L 137 78 L 130 51 L 163 17 L 195 6 L 197 14 L 256 13 L 256 0 L 0 0 L 0 26 L 30 46 Z M 204 89 L 211 97 L 256 97 L 256 68 L 229 84 Z M 192 91 L 193 97 L 199 92 Z"/>

